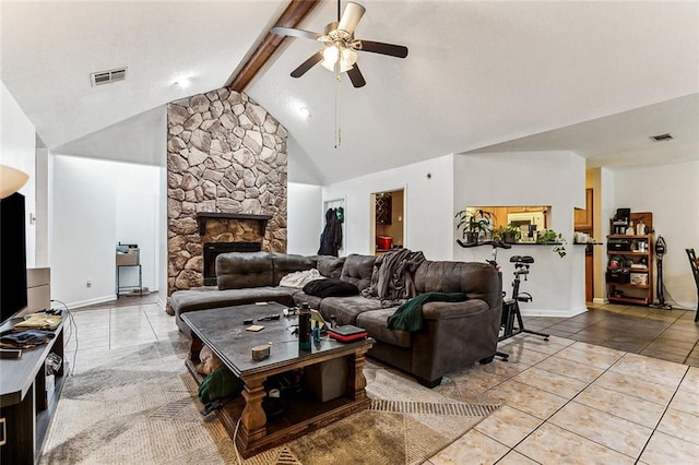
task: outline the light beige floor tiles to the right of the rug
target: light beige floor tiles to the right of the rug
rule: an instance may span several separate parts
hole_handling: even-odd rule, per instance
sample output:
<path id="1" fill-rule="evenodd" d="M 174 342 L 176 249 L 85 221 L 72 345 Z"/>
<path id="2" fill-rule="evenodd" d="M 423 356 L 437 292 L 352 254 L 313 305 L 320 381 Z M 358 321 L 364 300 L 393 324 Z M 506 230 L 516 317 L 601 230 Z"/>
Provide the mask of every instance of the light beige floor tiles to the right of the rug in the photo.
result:
<path id="1" fill-rule="evenodd" d="M 429 464 L 699 463 L 699 368 L 557 336 L 499 348 L 518 373 L 472 370 L 506 406 Z"/>

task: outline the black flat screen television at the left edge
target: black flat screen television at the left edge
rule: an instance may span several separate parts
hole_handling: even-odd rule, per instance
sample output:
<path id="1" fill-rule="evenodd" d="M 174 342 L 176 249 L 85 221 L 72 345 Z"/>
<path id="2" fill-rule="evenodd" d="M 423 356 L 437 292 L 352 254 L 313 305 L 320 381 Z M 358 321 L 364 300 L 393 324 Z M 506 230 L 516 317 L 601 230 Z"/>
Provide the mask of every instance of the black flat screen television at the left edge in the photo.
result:
<path id="1" fill-rule="evenodd" d="M 0 324 L 27 306 L 24 195 L 0 200 Z"/>

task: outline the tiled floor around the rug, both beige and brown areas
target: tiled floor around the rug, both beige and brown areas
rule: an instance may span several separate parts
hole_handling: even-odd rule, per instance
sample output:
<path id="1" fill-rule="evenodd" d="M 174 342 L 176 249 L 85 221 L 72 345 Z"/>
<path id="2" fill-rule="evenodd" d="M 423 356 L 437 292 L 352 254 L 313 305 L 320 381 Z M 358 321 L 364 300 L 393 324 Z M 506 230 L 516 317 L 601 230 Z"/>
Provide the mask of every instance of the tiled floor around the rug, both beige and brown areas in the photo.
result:
<path id="1" fill-rule="evenodd" d="M 67 330 L 66 357 L 75 372 L 99 363 L 106 350 L 155 341 L 180 346 L 186 341 L 173 317 L 157 305 L 120 300 L 120 306 L 72 312 L 75 324 L 71 337 L 71 329 Z M 510 354 L 509 361 L 496 359 L 472 367 L 469 394 L 500 400 L 505 406 L 427 464 L 698 463 L 699 368 L 689 366 L 689 354 L 696 350 L 699 337 L 694 325 L 682 323 L 671 331 L 674 323 L 686 319 L 684 313 L 671 313 L 670 318 L 632 313 L 608 306 L 577 320 L 526 318 L 525 325 L 531 329 L 558 326 L 554 330 L 564 331 L 568 323 L 574 332 L 566 337 L 552 335 L 548 342 L 518 335 L 499 346 Z M 623 319 L 617 320 L 618 315 Z M 585 329 L 605 320 L 608 324 L 604 327 L 588 332 L 596 333 L 599 344 L 623 338 L 629 325 L 641 327 L 645 320 L 670 324 L 656 334 L 644 333 L 648 341 L 642 344 L 630 341 L 630 350 L 574 339 L 581 332 L 580 337 L 589 337 Z M 620 321 L 626 325 L 617 325 Z M 671 334 L 663 337 L 668 331 Z M 686 365 L 633 353 L 643 353 L 659 338 L 670 344 L 674 334 L 688 341 L 685 333 L 695 337 L 691 346 L 679 346 L 687 349 L 683 356 Z M 607 338 L 601 341 L 600 334 Z"/>

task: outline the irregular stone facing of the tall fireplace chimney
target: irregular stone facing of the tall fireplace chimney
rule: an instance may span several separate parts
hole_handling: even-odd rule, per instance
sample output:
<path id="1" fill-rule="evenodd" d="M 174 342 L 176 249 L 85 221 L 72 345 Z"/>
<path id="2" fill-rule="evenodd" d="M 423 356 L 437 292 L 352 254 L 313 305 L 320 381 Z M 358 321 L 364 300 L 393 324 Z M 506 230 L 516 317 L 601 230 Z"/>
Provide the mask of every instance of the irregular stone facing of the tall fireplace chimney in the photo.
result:
<path id="1" fill-rule="evenodd" d="M 197 212 L 271 215 L 262 250 L 286 251 L 287 132 L 244 93 L 167 107 L 168 295 L 203 284 Z"/>

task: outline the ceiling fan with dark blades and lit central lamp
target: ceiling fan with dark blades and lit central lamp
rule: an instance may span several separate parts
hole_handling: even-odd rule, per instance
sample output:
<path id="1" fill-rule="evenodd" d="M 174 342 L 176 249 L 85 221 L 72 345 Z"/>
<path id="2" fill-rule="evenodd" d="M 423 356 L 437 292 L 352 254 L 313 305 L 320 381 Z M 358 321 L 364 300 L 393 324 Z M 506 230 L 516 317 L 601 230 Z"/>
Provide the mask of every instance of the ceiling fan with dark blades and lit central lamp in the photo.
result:
<path id="1" fill-rule="evenodd" d="M 366 9 L 359 3 L 351 1 L 347 2 L 341 16 L 340 0 L 337 0 L 337 21 L 329 23 L 323 34 L 292 27 L 273 27 L 272 34 L 309 38 L 324 45 L 322 49 L 292 71 L 292 78 L 300 78 L 316 64 L 321 63 L 323 68 L 334 71 L 337 75 L 346 72 L 352 85 L 363 87 L 367 82 L 357 65 L 357 51 L 369 51 L 398 58 L 407 57 L 407 47 L 402 45 L 354 38 L 354 29 L 357 27 Z"/>

